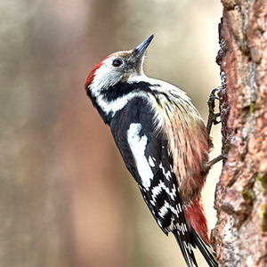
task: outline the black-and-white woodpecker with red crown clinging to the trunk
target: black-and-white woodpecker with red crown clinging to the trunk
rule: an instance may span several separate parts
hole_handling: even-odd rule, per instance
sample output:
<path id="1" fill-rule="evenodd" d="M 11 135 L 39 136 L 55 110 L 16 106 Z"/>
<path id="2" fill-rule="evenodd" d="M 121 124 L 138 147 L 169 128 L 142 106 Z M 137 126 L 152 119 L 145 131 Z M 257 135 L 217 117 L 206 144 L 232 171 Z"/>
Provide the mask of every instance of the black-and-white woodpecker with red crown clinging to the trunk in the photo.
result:
<path id="1" fill-rule="evenodd" d="M 109 125 L 150 213 L 166 235 L 174 234 L 187 265 L 198 266 L 193 252 L 198 247 L 209 266 L 218 266 L 200 195 L 209 169 L 209 136 L 185 92 L 144 74 L 152 39 L 100 61 L 85 91 Z"/>

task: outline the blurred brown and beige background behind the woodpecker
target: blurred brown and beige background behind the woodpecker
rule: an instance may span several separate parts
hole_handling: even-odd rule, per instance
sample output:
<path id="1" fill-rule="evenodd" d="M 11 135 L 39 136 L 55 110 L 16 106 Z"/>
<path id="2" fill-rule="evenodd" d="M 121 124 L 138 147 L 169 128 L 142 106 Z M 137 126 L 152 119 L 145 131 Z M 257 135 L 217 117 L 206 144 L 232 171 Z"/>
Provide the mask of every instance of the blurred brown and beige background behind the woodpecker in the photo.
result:
<path id="1" fill-rule="evenodd" d="M 185 266 L 84 84 L 107 54 L 154 34 L 147 75 L 187 91 L 206 120 L 208 94 L 220 84 L 221 13 L 209 0 L 0 2 L 0 266 Z M 219 173 L 204 191 L 210 228 Z"/>

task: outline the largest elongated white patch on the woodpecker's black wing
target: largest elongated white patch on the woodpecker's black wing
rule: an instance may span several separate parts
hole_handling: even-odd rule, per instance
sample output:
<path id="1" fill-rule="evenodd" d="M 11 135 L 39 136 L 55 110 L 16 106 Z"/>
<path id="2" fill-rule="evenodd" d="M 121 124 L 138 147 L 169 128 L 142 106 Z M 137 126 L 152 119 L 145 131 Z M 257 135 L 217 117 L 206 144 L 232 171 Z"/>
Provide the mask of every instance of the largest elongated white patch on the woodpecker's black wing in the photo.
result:
<path id="1" fill-rule="evenodd" d="M 136 167 L 142 179 L 142 185 L 144 187 L 150 187 L 150 179 L 153 178 L 153 173 L 151 171 L 148 159 L 145 157 L 148 138 L 145 135 L 140 136 L 141 129 L 141 124 L 131 124 L 127 130 L 127 140 L 130 149 L 133 152 Z"/>

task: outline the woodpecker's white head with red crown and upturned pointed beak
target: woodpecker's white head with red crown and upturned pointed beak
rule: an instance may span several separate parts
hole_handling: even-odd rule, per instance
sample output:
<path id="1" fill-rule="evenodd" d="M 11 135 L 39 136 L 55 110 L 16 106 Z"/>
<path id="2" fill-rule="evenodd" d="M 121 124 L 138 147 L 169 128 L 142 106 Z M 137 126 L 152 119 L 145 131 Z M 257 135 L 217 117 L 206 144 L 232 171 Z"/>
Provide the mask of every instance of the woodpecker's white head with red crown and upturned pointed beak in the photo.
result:
<path id="1" fill-rule="evenodd" d="M 126 82 L 132 77 L 143 74 L 143 60 L 147 47 L 153 39 L 153 35 L 130 51 L 112 53 L 100 61 L 85 82 L 85 90 L 93 97 L 98 97 L 103 91 Z"/>

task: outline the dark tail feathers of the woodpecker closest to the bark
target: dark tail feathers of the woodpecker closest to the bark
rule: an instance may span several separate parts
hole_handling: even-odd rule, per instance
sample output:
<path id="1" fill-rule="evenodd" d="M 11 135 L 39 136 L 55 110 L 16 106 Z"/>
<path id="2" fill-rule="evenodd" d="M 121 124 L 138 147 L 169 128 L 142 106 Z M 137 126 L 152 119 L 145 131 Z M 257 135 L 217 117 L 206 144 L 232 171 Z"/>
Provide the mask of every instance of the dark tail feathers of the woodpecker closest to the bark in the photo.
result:
<path id="1" fill-rule="evenodd" d="M 218 267 L 218 262 L 216 259 L 216 255 L 214 252 L 214 249 L 206 244 L 198 235 L 197 231 L 194 230 L 194 228 L 191 227 L 191 238 L 193 239 L 194 243 L 197 245 L 198 249 L 200 250 L 201 254 L 206 259 L 206 263 L 210 267 Z"/>

